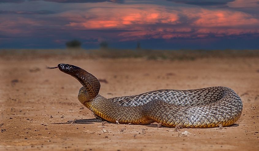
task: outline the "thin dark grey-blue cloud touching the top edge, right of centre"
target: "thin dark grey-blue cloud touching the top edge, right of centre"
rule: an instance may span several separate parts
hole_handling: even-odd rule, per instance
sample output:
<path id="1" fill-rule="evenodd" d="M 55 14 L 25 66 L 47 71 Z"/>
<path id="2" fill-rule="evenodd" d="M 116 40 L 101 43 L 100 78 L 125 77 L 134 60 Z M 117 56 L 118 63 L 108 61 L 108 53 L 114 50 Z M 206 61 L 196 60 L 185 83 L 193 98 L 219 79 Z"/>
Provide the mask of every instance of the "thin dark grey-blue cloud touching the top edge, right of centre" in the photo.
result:
<path id="1" fill-rule="evenodd" d="M 226 5 L 228 2 L 234 2 L 235 0 L 167 0 L 176 3 L 183 3 L 189 5 L 199 5 L 199 6 L 218 6 Z"/>

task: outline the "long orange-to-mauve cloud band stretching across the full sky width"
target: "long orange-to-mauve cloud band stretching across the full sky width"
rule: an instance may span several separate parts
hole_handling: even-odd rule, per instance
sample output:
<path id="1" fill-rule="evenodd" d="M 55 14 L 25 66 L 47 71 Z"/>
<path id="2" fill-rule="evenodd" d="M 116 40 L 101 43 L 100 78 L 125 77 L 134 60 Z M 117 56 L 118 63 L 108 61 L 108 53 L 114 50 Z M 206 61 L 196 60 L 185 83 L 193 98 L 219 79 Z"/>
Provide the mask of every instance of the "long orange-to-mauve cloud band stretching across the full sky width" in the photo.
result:
<path id="1" fill-rule="evenodd" d="M 243 1 L 239 0 L 235 5 L 231 2 L 231 5 L 238 7 L 238 2 Z M 33 32 L 32 29 L 41 27 L 69 31 L 117 30 L 118 32 L 113 35 L 105 35 L 105 33 L 100 35 L 121 41 L 149 38 L 189 39 L 206 38 L 211 35 L 222 37 L 259 33 L 258 16 L 233 9 L 115 3 L 87 3 L 76 6 L 76 10 L 48 14 L 52 19 L 49 22 L 48 17 L 44 18 L 45 20 L 25 17 L 1 18 L 0 32 L 28 34 Z M 88 35 L 87 38 L 102 38 L 100 35 Z"/>

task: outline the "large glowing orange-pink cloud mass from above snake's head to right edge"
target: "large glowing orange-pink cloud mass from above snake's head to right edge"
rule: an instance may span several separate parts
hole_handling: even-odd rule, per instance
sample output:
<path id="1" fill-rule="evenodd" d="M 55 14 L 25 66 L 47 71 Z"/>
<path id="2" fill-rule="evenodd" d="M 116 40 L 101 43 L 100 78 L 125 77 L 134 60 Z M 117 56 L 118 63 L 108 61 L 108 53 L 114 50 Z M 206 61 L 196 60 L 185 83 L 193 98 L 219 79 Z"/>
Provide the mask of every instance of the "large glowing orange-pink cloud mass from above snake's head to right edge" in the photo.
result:
<path id="1" fill-rule="evenodd" d="M 93 7 L 93 6 L 91 6 Z M 120 40 L 146 38 L 206 38 L 259 33 L 259 19 L 244 12 L 200 7 L 167 7 L 143 4 L 114 4 L 93 7 L 84 12 L 61 14 L 72 17 L 66 26 L 74 29 L 122 29 Z M 251 28 L 252 27 L 252 28 Z"/>

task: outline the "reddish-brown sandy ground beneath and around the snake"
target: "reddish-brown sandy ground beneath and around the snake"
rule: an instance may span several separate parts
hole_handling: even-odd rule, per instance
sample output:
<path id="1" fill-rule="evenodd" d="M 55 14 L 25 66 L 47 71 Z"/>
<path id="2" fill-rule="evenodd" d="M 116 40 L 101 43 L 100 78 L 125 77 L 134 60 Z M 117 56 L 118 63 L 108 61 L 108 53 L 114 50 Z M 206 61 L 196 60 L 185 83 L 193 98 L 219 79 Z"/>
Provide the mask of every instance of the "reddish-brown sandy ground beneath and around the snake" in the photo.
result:
<path id="1" fill-rule="evenodd" d="M 102 79 L 100 94 L 110 98 L 155 89 L 227 86 L 243 101 L 235 126 L 181 129 L 157 125 L 53 124 L 89 119 L 77 100 L 80 83 L 58 69 L 69 63 Z M 0 150 L 259 150 L 259 58 L 183 61 L 0 58 Z M 178 135 L 188 131 L 189 136 Z"/>

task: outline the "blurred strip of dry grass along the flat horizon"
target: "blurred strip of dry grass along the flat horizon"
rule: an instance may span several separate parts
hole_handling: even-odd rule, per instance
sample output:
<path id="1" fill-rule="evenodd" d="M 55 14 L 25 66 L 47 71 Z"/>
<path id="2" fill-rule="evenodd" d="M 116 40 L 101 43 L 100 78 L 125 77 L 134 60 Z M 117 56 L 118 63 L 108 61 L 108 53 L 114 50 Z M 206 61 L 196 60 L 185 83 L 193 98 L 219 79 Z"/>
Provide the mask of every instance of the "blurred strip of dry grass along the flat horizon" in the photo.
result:
<path id="1" fill-rule="evenodd" d="M 19 57 L 22 55 L 23 57 Z M 7 59 L 38 59 L 38 58 L 143 58 L 147 60 L 195 60 L 200 58 L 236 58 L 259 57 L 259 50 L 130 50 L 130 49 L 96 49 L 76 51 L 68 49 L 42 49 L 42 50 L 0 50 L 0 58 Z"/>

